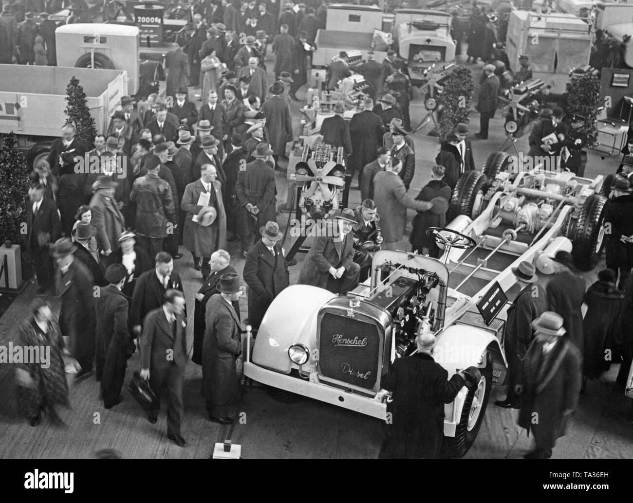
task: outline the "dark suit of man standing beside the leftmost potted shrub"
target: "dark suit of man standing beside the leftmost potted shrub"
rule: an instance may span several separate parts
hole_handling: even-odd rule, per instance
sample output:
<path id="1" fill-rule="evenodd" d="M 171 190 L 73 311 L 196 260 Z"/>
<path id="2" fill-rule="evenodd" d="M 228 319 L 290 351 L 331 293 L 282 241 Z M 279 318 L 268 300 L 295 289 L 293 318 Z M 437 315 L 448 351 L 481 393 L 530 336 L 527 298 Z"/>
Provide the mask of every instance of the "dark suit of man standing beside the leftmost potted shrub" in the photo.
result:
<path id="1" fill-rule="evenodd" d="M 27 250 L 31 252 L 31 261 L 37 274 L 37 284 L 49 288 L 53 284 L 53 259 L 49 245 L 60 239 L 60 216 L 53 199 L 43 197 L 37 214 L 33 215 L 33 203 L 27 206 Z"/>

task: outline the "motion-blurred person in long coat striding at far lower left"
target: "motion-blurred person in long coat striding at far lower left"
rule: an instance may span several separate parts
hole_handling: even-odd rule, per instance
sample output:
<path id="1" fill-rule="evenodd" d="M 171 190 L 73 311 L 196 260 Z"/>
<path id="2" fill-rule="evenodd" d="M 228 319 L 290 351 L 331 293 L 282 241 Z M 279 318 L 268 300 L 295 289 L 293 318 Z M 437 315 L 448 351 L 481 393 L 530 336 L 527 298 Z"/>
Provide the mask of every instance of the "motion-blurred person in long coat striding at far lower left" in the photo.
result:
<path id="1" fill-rule="evenodd" d="M 63 354 L 68 354 L 68 351 L 60 326 L 46 302 L 35 299 L 30 316 L 20 325 L 17 344 L 39 349 L 41 363 L 44 363 L 42 356 L 50 359 L 46 364 L 20 363 L 15 369 L 18 409 L 20 414 L 29 419 L 31 426 L 37 426 L 41 420 L 41 411 L 46 407 L 56 417 L 54 406 L 69 405 L 63 359 Z M 50 353 L 46 354 L 49 349 Z"/>

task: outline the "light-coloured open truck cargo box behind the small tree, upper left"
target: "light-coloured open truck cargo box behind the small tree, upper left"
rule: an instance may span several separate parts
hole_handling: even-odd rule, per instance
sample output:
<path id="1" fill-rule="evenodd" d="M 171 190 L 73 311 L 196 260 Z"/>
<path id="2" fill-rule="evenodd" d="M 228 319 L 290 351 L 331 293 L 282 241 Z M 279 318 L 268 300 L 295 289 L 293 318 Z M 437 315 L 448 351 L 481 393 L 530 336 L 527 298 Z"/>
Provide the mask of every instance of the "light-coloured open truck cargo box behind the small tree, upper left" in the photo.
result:
<path id="1" fill-rule="evenodd" d="M 125 71 L 32 65 L 0 65 L 0 133 L 59 137 L 73 76 L 84 88 L 97 132 L 103 133 L 127 94 Z"/>

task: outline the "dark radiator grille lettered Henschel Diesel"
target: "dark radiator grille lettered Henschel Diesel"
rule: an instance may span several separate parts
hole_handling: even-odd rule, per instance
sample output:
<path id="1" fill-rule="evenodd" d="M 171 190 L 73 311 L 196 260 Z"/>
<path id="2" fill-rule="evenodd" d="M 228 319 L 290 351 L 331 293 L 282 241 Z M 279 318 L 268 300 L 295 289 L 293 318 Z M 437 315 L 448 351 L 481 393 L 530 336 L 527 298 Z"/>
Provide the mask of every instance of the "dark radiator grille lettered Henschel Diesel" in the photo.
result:
<path id="1" fill-rule="evenodd" d="M 323 376 L 372 389 L 380 377 L 380 333 L 376 325 L 334 313 L 320 323 L 319 368 Z"/>

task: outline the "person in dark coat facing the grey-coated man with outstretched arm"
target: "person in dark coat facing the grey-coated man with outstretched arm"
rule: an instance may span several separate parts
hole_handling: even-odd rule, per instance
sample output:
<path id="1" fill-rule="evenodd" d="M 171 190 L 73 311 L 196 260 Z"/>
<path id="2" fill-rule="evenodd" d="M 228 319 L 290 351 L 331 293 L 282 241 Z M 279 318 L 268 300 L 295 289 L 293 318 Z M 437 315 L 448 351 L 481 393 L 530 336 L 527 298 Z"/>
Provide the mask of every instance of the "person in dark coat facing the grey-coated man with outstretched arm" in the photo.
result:
<path id="1" fill-rule="evenodd" d="M 451 189 L 442 181 L 443 177 L 444 166 L 433 166 L 430 182 L 420 190 L 415 200 L 433 202 L 434 206 L 429 211 L 418 211 L 413 217 L 413 231 L 409 238 L 414 251 L 435 259 L 439 258 L 439 247 L 435 239 L 427 236 L 427 229 L 446 227 L 446 210 L 451 199 Z M 436 199 L 438 197 L 441 200 Z"/>

